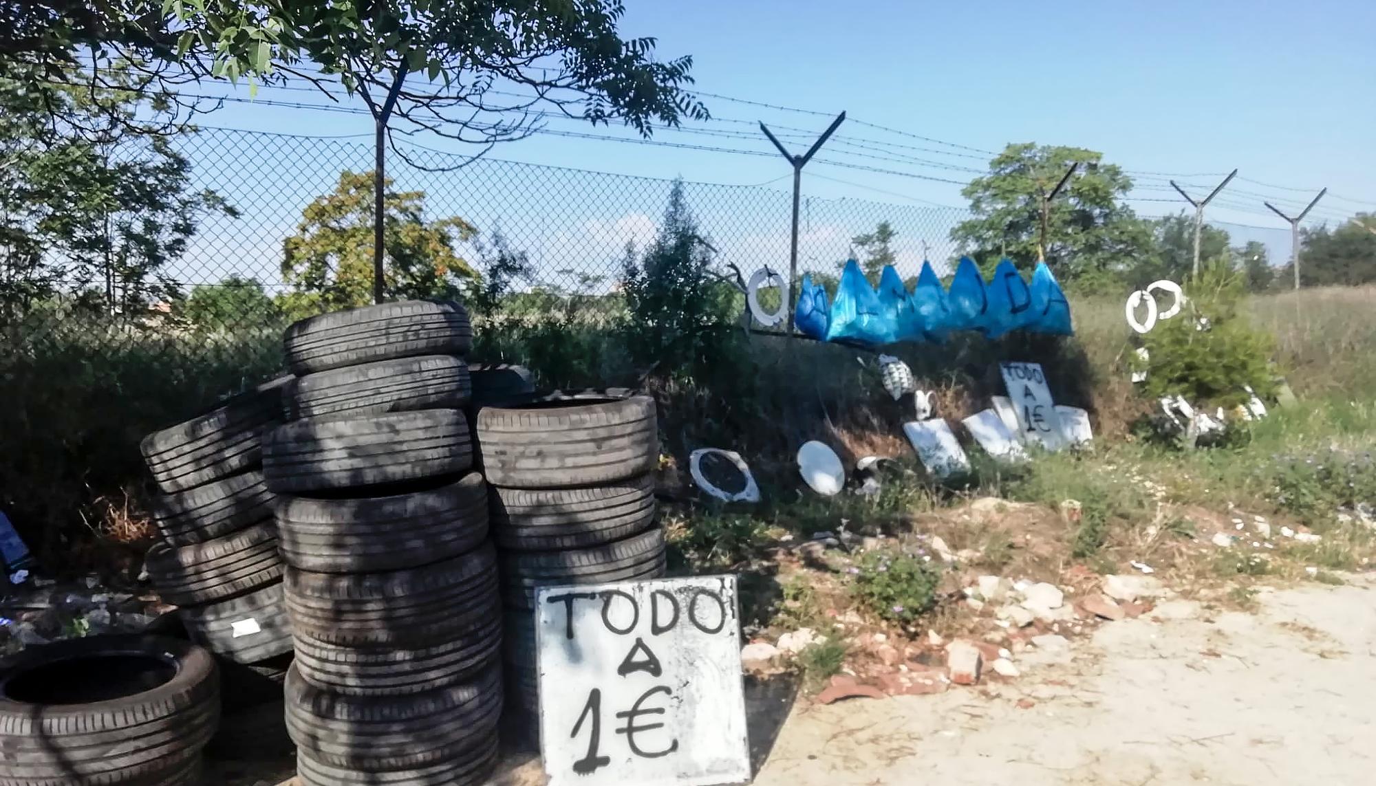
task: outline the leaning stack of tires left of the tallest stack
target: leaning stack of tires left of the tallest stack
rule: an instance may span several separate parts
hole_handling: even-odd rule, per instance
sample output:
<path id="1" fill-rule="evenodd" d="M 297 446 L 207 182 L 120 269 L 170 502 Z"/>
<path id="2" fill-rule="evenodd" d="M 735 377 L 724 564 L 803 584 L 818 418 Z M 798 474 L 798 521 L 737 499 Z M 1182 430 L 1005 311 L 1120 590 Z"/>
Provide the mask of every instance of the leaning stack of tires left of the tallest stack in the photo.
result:
<path id="1" fill-rule="evenodd" d="M 274 495 L 261 473 L 261 437 L 282 422 L 288 382 L 260 385 L 140 444 L 161 492 L 149 577 L 191 639 L 220 658 L 224 717 L 212 750 L 289 745 L 281 683 L 292 635 Z"/>

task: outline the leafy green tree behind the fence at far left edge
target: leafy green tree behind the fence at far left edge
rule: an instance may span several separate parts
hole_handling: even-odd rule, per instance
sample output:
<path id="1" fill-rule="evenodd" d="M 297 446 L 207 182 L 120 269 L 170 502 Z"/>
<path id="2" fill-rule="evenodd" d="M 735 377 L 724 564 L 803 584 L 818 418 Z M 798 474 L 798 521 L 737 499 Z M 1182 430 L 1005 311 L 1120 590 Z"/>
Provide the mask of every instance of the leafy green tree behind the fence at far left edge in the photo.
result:
<path id="1" fill-rule="evenodd" d="M 175 298 L 162 271 L 186 253 L 200 217 L 238 214 L 195 191 L 187 159 L 154 133 L 166 107 L 121 84 L 34 93 L 0 78 L 0 302 L 11 315 L 59 290 L 128 313 Z M 95 137 L 54 133 L 52 111 L 78 125 L 122 121 Z"/>

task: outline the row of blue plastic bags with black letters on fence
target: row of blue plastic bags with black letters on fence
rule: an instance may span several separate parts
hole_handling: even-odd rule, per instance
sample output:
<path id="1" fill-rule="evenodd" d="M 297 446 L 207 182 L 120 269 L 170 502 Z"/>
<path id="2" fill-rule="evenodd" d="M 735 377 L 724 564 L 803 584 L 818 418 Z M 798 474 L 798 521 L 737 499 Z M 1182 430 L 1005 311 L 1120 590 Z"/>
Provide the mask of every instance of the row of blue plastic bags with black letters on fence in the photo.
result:
<path id="1" fill-rule="evenodd" d="M 1031 286 L 1013 262 L 1003 260 L 985 283 L 974 260 L 962 257 L 951 280 L 941 286 L 930 262 L 922 264 L 908 291 L 899 272 L 885 265 L 878 291 L 854 260 L 848 260 L 830 306 L 821 284 L 804 276 L 794 324 L 819 341 L 850 341 L 882 346 L 900 341 L 941 342 L 956 330 L 977 330 L 999 338 L 1014 330 L 1073 335 L 1071 304 L 1044 262 Z"/>

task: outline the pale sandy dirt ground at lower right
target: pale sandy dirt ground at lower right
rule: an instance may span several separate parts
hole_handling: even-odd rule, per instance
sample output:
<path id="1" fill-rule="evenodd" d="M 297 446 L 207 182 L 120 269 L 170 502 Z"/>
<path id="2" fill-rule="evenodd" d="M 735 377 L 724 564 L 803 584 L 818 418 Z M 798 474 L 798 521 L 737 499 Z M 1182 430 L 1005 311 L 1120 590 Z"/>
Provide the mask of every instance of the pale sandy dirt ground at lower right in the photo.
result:
<path id="1" fill-rule="evenodd" d="M 1376 574 L 1347 579 L 1262 591 L 1255 613 L 1170 602 L 1018 655 L 1017 679 L 940 695 L 817 706 L 783 680 L 753 686 L 754 783 L 1370 783 Z M 541 782 L 530 760 L 494 781 Z"/>

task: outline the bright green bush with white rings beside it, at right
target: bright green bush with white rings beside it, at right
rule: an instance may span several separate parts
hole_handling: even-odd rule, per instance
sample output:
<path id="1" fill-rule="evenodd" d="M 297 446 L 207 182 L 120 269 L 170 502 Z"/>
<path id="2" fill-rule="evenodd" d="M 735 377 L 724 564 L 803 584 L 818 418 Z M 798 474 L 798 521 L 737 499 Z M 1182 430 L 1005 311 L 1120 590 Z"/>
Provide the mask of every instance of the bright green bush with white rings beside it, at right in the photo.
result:
<path id="1" fill-rule="evenodd" d="M 1198 405 L 1234 407 L 1247 401 L 1245 385 L 1260 396 L 1276 388 L 1270 359 L 1274 338 L 1240 312 L 1247 295 L 1243 276 L 1214 261 L 1183 286 L 1182 311 L 1142 337 L 1150 353 L 1143 385 L 1152 398 L 1185 396 Z M 1200 320 L 1207 320 L 1203 330 Z"/>

